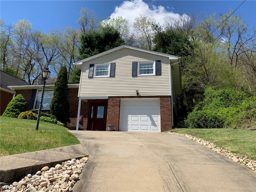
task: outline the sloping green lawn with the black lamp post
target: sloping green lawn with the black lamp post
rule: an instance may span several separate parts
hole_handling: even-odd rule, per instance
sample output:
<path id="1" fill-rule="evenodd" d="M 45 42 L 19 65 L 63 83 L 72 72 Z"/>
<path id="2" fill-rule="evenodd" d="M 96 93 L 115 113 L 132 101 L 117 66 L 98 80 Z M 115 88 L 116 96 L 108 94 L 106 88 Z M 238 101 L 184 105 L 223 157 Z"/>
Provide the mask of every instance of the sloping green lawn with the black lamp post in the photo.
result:
<path id="1" fill-rule="evenodd" d="M 0 116 L 0 156 L 79 144 L 67 128 L 48 122 Z"/>

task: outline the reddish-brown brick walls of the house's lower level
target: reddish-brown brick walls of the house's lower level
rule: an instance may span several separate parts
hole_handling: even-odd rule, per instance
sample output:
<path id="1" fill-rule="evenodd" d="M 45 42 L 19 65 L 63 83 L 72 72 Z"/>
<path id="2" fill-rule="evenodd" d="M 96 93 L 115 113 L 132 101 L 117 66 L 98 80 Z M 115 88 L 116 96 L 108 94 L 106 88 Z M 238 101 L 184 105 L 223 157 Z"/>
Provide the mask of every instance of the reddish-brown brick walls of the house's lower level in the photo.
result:
<path id="1" fill-rule="evenodd" d="M 16 90 L 17 94 L 22 94 L 27 102 L 27 106 L 30 102 L 32 90 Z M 2 94 L 2 92 L 1 92 Z M 1 95 L 2 96 L 2 95 Z M 108 103 L 107 117 L 106 117 L 106 130 L 107 125 L 114 125 L 114 130 L 119 131 L 120 123 L 120 99 L 121 98 L 160 98 L 160 117 L 161 117 L 161 132 L 172 129 L 172 102 L 171 96 L 125 96 L 125 97 L 109 97 L 108 100 L 88 100 L 87 102 L 81 102 L 80 116 L 82 116 L 82 122 L 79 124 L 79 128 L 82 130 L 88 129 L 88 117 L 90 112 L 90 104 L 92 103 Z M 78 111 L 78 88 L 69 89 L 68 101 L 70 103 L 70 124 L 68 127 L 76 128 L 76 118 Z M 2 107 L 2 106 L 1 106 Z"/>

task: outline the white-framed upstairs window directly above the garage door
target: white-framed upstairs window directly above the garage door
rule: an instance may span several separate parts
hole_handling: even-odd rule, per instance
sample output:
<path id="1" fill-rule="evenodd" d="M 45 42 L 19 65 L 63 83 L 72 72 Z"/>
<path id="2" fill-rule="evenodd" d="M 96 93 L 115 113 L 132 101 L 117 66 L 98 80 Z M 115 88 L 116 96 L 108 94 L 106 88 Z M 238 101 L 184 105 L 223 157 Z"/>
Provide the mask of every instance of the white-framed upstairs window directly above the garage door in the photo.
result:
<path id="1" fill-rule="evenodd" d="M 156 75 L 156 62 L 138 62 L 138 76 Z"/>

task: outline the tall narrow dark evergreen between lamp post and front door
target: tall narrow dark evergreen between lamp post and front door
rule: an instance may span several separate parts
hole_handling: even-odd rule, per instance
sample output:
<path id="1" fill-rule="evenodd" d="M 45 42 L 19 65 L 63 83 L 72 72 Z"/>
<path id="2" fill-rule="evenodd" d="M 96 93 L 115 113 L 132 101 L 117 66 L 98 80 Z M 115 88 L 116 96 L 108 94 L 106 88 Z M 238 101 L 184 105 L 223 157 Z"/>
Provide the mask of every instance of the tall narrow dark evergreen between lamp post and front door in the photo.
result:
<path id="1" fill-rule="evenodd" d="M 68 102 L 68 72 L 66 66 L 60 68 L 55 82 L 53 98 L 50 104 L 50 111 L 56 119 L 64 124 L 70 123 L 69 102 Z"/>

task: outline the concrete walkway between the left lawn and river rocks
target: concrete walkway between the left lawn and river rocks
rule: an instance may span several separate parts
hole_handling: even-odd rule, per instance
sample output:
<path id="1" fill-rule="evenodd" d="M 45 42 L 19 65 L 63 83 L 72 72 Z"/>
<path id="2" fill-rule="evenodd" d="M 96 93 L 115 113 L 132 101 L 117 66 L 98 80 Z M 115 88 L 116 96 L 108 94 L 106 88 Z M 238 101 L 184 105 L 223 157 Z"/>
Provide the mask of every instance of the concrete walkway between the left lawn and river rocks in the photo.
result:
<path id="1" fill-rule="evenodd" d="M 0 157 L 0 182 L 18 180 L 26 174 L 33 174 L 44 166 L 88 156 L 82 144 Z"/>

